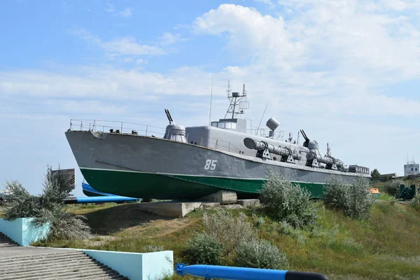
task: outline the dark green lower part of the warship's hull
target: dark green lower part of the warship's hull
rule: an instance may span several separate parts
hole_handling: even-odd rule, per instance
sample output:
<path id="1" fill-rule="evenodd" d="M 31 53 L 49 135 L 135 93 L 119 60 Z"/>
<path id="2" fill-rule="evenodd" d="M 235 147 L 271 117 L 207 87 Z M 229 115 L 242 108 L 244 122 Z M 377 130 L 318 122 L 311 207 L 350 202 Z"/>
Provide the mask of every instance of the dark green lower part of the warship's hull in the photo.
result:
<path id="1" fill-rule="evenodd" d="M 188 200 L 211 195 L 218 190 L 233 190 L 239 198 L 258 197 L 263 179 L 237 179 L 188 175 L 120 172 L 118 170 L 80 169 L 87 183 L 102 193 L 127 197 Z M 323 184 L 293 182 L 314 197 L 323 193 Z"/>

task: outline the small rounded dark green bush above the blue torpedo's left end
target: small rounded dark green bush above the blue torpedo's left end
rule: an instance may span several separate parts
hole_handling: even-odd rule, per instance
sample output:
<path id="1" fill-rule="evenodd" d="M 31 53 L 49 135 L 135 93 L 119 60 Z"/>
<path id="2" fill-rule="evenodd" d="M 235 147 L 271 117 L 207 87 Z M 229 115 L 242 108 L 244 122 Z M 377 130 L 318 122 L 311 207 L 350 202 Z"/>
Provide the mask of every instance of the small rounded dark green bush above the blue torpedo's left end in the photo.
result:
<path id="1" fill-rule="evenodd" d="M 190 239 L 186 248 L 186 255 L 191 264 L 219 265 L 223 246 L 216 237 L 198 234 Z"/>

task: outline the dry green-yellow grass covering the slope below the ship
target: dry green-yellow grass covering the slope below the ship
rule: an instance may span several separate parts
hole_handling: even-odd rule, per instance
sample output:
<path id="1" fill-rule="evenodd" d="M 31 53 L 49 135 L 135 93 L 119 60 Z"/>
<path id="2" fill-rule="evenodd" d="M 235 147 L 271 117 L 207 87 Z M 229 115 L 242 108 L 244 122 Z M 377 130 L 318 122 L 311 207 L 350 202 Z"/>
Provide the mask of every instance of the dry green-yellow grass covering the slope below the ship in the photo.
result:
<path id="1" fill-rule="evenodd" d="M 286 233 L 279 223 L 260 215 L 258 210 L 228 211 L 244 211 L 260 237 L 286 253 L 289 265 L 285 269 L 320 272 L 329 279 L 419 279 L 420 211 L 410 205 L 379 202 L 368 220 L 355 221 L 325 209 L 321 202 L 316 202 L 316 207 L 316 227 Z M 186 242 L 204 229 L 203 211 L 186 218 L 165 219 L 140 211 L 136 204 L 69 210 L 87 216 L 95 234 L 112 239 L 103 241 L 97 236 L 89 242 L 50 240 L 36 245 L 129 252 L 146 252 L 148 245 L 158 245 L 174 251 L 176 263 L 185 262 Z M 256 221 L 255 215 L 262 216 L 264 222 Z M 99 240 L 101 244 L 92 242 Z M 232 265 L 229 258 L 225 262 Z"/>

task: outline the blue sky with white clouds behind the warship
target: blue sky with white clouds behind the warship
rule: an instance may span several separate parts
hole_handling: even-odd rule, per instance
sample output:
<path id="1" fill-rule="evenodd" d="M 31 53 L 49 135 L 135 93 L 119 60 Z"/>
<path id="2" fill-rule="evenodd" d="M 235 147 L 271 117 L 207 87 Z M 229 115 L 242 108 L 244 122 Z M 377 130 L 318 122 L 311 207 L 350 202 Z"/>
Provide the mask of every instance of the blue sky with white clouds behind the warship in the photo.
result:
<path id="1" fill-rule="evenodd" d="M 60 165 L 81 196 L 71 119 L 165 127 L 169 109 L 207 125 L 228 80 L 253 126 L 274 117 L 322 154 L 403 175 L 407 154 L 420 162 L 419 18 L 408 0 L 0 1 L 0 189 L 41 193 Z"/>

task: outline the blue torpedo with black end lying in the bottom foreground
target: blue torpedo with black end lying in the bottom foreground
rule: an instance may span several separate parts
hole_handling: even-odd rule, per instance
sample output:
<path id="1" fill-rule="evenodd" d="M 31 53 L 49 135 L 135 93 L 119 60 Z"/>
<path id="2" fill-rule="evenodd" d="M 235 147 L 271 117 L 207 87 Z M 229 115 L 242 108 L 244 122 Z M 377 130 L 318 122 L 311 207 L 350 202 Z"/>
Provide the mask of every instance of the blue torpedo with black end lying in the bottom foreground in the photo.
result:
<path id="1" fill-rule="evenodd" d="M 176 264 L 176 273 L 204 277 L 205 279 L 235 280 L 328 280 L 324 274 L 314 272 L 293 272 L 288 270 L 261 269 L 249 267 L 224 267 L 218 265 L 184 265 Z"/>

